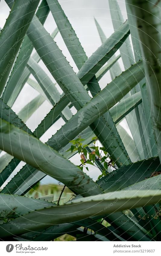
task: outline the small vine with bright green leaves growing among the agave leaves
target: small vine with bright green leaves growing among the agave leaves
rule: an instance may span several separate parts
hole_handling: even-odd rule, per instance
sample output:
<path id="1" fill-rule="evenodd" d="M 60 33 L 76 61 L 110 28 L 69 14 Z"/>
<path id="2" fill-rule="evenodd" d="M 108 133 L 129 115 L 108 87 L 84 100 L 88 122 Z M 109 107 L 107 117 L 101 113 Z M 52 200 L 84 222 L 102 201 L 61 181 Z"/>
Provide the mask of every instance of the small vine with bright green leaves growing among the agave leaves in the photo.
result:
<path id="1" fill-rule="evenodd" d="M 78 167 L 81 170 L 83 170 L 83 167 L 85 167 L 88 171 L 87 164 L 90 164 L 101 169 L 102 174 L 99 175 L 98 179 L 100 179 L 103 176 L 106 176 L 108 174 L 108 167 L 115 168 L 114 161 L 109 158 L 109 154 L 107 153 L 104 147 L 98 147 L 97 137 L 92 138 L 92 141 L 94 144 L 94 146 L 92 147 L 90 147 L 90 144 L 83 145 L 82 144 L 83 141 L 84 139 L 82 139 L 81 137 L 78 137 L 76 140 L 70 141 L 72 145 L 70 149 L 68 149 L 66 152 L 71 151 L 71 153 L 73 153 L 74 151 L 76 151 L 76 153 L 79 153 L 79 155 L 81 156 L 81 159 L 80 159 L 81 164 Z M 89 152 L 87 152 L 87 150 Z M 104 156 L 101 156 L 102 152 L 104 153 Z M 103 164 L 100 165 L 100 167 L 98 167 L 95 165 L 96 161 L 99 161 L 100 163 L 103 163 Z"/>

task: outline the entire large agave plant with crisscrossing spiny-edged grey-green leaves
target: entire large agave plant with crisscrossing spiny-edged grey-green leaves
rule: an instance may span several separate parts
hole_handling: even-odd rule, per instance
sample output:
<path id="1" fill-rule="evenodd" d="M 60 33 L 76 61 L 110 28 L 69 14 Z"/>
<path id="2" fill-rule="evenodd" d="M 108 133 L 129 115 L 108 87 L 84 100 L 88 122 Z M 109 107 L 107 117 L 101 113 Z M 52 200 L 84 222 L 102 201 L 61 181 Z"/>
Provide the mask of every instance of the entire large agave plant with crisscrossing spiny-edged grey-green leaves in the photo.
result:
<path id="1" fill-rule="evenodd" d="M 126 0 L 124 21 L 117 0 L 109 0 L 114 33 L 106 38 L 95 19 L 102 44 L 89 58 L 57 0 L 5 2 L 11 11 L 0 34 L 1 240 L 70 234 L 78 241 L 159 241 L 160 2 Z M 50 11 L 57 24 L 51 35 L 43 26 Z M 55 43 L 57 33 L 77 73 Z M 112 81 L 101 90 L 107 71 Z M 38 96 L 16 115 L 13 104 L 26 83 Z M 25 123 L 45 101 L 52 109 L 32 132 Z M 43 143 L 42 135 L 61 118 L 65 124 Z M 125 119 L 132 139 L 119 124 Z M 70 161 L 75 154 L 77 165 Z M 99 170 L 96 180 L 89 166 Z M 31 198 L 29 191 L 46 175 L 74 197 L 61 201 L 61 193 L 53 202 L 49 192 Z"/>

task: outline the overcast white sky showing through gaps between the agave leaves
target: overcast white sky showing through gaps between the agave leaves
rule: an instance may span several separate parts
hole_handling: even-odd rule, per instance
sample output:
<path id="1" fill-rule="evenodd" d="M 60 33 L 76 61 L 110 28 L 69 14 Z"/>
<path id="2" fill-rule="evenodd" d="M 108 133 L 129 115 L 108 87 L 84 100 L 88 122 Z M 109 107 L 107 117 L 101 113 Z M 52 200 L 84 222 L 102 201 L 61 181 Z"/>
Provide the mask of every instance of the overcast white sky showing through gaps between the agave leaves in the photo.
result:
<path id="1" fill-rule="evenodd" d="M 61 4 L 63 10 L 65 11 L 65 14 L 67 15 L 69 21 L 71 22 L 74 30 L 76 31 L 76 34 L 87 54 L 89 57 L 100 45 L 101 41 L 99 38 L 99 34 L 94 22 L 94 17 L 99 22 L 100 26 L 102 27 L 105 35 L 109 37 L 113 32 L 113 26 L 110 16 L 110 10 L 109 10 L 109 4 L 108 0 L 65 0 L 65 1 L 59 1 Z M 119 6 L 121 8 L 122 14 L 124 19 L 127 19 L 126 15 L 126 8 L 125 8 L 125 1 L 118 1 Z M 9 8 L 4 0 L 1 0 L 0 2 L 0 27 L 3 28 L 5 24 L 5 19 L 9 15 Z M 53 30 L 56 28 L 56 23 L 52 17 L 52 14 L 50 13 L 44 27 L 49 33 L 52 33 Z M 71 66 L 74 68 L 74 71 L 77 72 L 77 67 L 75 66 L 72 58 L 70 57 L 70 54 L 62 40 L 62 37 L 58 33 L 58 35 L 55 37 L 55 41 L 57 42 L 57 45 L 62 50 L 63 54 L 67 57 L 68 61 L 70 62 Z M 118 55 L 119 52 L 116 53 Z M 122 70 L 124 70 L 121 60 L 119 60 L 119 63 L 122 67 Z M 46 71 L 46 73 L 49 75 L 52 81 L 54 81 L 53 77 L 45 67 L 42 61 L 39 62 L 39 64 L 43 67 L 43 69 Z M 33 78 L 33 76 L 31 76 Z M 34 78 L 33 78 L 34 79 Z M 106 86 L 107 83 L 111 81 L 111 77 L 109 75 L 109 72 L 104 76 L 103 79 L 100 80 L 100 87 L 103 88 Z M 36 97 L 38 93 L 36 90 L 34 90 L 32 87 L 30 87 L 28 84 L 25 85 L 24 89 L 21 91 L 19 97 L 17 98 L 13 110 L 18 113 L 21 108 L 23 108 L 24 105 L 26 105 L 28 102 L 30 102 L 34 97 Z M 45 102 L 42 104 L 41 107 L 39 107 L 38 111 L 36 111 L 27 121 L 27 126 L 33 131 L 37 125 L 43 120 L 46 113 L 49 112 L 51 109 L 51 106 L 49 103 Z M 54 134 L 56 130 L 58 130 L 61 125 L 64 124 L 64 121 L 62 122 L 56 122 L 55 125 L 53 125 L 46 136 L 44 136 L 43 141 L 47 141 L 49 137 L 51 137 L 51 134 Z M 128 133 L 130 134 L 128 127 L 126 125 L 126 122 L 122 122 L 122 125 L 126 128 Z M 75 164 L 79 164 L 80 156 L 74 156 L 72 157 L 71 161 Z M 90 177 L 96 179 L 98 177 L 99 172 L 98 169 L 90 167 L 89 171 Z M 43 180 L 44 183 L 52 183 L 52 178 L 47 177 Z"/>

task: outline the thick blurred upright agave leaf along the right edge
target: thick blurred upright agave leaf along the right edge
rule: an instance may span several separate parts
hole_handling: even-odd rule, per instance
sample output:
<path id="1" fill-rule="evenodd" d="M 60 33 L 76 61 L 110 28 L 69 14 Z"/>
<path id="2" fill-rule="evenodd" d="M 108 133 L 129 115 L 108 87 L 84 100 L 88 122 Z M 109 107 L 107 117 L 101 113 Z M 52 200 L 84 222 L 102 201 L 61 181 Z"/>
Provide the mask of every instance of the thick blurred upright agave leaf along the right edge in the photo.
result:
<path id="1" fill-rule="evenodd" d="M 160 111 L 160 67 L 159 60 L 161 59 L 160 51 L 160 24 L 159 24 L 159 8 L 160 3 L 132 1 L 131 10 L 135 14 L 137 26 L 139 29 L 139 39 L 141 42 L 141 50 L 147 61 L 144 61 L 144 67 L 147 79 L 147 91 L 149 104 L 152 109 L 151 117 L 155 126 L 156 143 L 158 147 L 159 158 L 161 160 L 161 111 Z M 142 11 L 140 11 L 142 10 Z M 142 19 L 145 15 L 144 20 Z M 148 25 L 147 25 L 148 23 Z M 150 35 L 154 35 L 150 37 Z M 148 62 L 148 63 L 147 63 Z"/>

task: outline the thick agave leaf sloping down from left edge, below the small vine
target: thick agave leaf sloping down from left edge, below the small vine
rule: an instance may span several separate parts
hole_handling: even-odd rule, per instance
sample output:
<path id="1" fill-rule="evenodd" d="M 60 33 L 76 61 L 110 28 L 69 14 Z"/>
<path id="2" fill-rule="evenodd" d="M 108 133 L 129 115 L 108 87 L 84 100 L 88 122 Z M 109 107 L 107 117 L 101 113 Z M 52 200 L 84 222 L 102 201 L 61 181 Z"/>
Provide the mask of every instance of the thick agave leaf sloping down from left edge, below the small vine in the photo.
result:
<path id="1" fill-rule="evenodd" d="M 63 158 L 46 144 L 43 144 L 36 137 L 27 134 L 23 130 L 18 130 L 14 125 L 9 124 L 3 119 L 1 119 L 0 148 L 11 155 L 14 154 L 18 159 L 31 164 L 46 174 L 55 177 L 55 179 L 66 184 L 73 191 L 77 191 L 77 193 L 79 193 L 80 189 L 82 190 L 82 186 L 84 187 L 84 195 L 90 194 L 91 192 L 88 191 L 88 188 L 93 186 L 96 186 L 96 189 L 92 193 L 102 192 L 96 183 L 77 166 Z M 47 159 L 48 162 L 46 162 Z M 67 169 L 70 169 L 71 179 Z"/>

